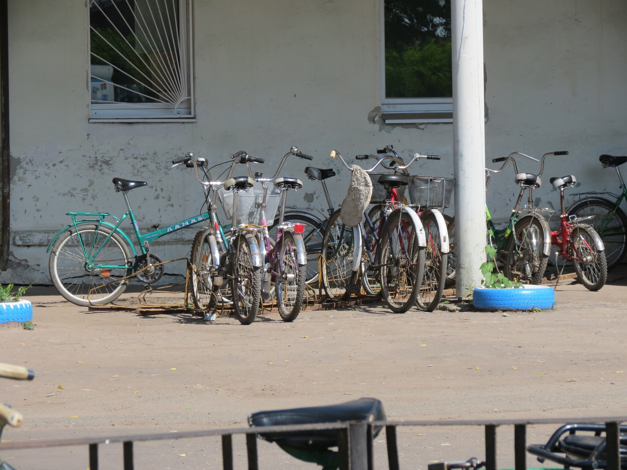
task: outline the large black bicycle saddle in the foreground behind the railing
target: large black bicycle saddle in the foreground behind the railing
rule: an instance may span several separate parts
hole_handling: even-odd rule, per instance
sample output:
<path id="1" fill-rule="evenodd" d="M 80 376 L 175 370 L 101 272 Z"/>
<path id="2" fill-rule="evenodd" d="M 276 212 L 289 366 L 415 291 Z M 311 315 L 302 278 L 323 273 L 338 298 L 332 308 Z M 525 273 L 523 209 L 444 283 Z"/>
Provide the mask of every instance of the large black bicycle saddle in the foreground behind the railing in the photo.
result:
<path id="1" fill-rule="evenodd" d="M 314 424 L 342 421 L 382 421 L 386 419 L 381 400 L 360 398 L 350 402 L 328 406 L 312 406 L 287 410 L 260 411 L 248 417 L 253 426 L 282 426 L 287 424 Z M 375 429 L 376 434 L 381 429 Z M 375 434 L 375 435 L 376 435 Z M 271 432 L 260 434 L 263 439 L 277 442 L 280 446 L 308 449 L 327 449 L 337 446 L 337 429 L 321 431 Z"/>

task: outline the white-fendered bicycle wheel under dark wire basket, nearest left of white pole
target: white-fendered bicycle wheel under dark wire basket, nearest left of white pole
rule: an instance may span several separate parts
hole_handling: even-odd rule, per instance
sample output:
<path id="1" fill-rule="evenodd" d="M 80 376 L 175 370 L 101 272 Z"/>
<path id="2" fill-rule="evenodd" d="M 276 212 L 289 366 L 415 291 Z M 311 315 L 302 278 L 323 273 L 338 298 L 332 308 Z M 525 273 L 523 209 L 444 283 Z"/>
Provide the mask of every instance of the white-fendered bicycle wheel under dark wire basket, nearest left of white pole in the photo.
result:
<path id="1" fill-rule="evenodd" d="M 427 214 L 422 222 L 427 246 L 424 251 L 424 277 L 416 305 L 420 310 L 433 311 L 444 293 L 448 254 L 442 253 L 440 226 L 435 216 Z"/>

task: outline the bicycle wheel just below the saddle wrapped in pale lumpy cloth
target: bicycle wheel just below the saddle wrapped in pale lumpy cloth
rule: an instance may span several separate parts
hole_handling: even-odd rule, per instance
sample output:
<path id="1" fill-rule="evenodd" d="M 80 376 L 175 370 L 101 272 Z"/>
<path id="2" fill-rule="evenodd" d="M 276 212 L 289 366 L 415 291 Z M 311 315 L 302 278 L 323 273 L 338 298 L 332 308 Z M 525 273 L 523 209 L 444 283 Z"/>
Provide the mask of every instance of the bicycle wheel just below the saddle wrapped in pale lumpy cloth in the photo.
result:
<path id="1" fill-rule="evenodd" d="M 350 297 L 350 286 L 357 280 L 352 270 L 355 243 L 353 231 L 342 223 L 340 209 L 329 219 L 322 240 L 322 285 L 330 300 L 346 300 Z"/>

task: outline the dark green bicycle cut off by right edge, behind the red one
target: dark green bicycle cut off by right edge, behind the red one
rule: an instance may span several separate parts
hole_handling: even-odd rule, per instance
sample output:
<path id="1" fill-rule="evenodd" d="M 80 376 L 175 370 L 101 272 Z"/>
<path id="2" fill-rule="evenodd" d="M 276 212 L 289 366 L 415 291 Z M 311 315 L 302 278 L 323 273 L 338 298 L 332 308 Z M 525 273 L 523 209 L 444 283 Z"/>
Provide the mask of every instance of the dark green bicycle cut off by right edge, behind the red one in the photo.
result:
<path id="1" fill-rule="evenodd" d="M 627 187 L 623 181 L 623 175 L 618 168 L 619 165 L 627 162 L 627 157 L 613 157 L 612 155 L 601 155 L 599 161 L 603 168 L 615 168 L 620 182 L 620 194 L 609 191 L 587 191 L 576 192 L 572 196 L 608 194 L 616 198 L 610 201 L 604 197 L 586 197 L 574 202 L 566 212 L 569 216 L 587 217 L 594 216 L 593 228 L 598 232 L 605 246 L 605 256 L 608 263 L 608 271 L 616 268 L 623 261 L 627 251 L 627 216 L 620 208 L 623 199 L 627 197 Z"/>

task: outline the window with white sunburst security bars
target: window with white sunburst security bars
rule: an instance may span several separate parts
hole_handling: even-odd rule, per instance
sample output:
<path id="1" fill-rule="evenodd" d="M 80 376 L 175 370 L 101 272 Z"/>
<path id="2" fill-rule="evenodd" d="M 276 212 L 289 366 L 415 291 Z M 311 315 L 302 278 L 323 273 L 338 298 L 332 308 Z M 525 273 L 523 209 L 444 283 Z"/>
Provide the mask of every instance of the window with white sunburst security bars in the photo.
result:
<path id="1" fill-rule="evenodd" d="M 194 117 L 189 0 L 89 0 L 90 120 Z"/>

